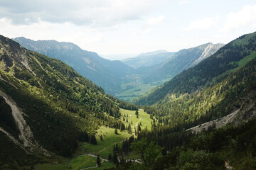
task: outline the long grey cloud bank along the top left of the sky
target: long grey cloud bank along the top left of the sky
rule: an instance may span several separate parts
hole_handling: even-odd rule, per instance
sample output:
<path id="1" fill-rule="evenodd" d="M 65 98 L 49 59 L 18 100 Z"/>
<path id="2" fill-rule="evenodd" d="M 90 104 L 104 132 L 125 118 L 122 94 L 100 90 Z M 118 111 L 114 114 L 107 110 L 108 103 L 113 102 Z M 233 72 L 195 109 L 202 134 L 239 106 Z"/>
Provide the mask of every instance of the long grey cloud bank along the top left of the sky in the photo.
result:
<path id="1" fill-rule="evenodd" d="M 139 20 L 153 11 L 157 3 L 157 0 L 1 0 L 0 16 L 16 25 L 47 21 L 104 27 Z"/>

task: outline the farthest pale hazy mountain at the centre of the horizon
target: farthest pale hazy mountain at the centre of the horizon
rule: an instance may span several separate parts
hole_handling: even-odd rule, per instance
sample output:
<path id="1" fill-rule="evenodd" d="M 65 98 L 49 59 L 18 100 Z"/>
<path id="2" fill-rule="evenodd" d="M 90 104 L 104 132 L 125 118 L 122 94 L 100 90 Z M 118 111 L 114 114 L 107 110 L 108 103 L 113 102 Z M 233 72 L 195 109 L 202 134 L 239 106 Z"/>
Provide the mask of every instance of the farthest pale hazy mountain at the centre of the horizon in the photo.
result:
<path id="1" fill-rule="evenodd" d="M 160 64 L 161 62 L 169 59 L 174 54 L 175 52 L 159 50 L 155 52 L 145 52 L 138 55 L 137 57 L 127 58 L 121 61 L 124 62 L 124 64 L 129 65 L 129 67 L 138 69 L 140 67 L 150 67 L 156 64 Z"/>

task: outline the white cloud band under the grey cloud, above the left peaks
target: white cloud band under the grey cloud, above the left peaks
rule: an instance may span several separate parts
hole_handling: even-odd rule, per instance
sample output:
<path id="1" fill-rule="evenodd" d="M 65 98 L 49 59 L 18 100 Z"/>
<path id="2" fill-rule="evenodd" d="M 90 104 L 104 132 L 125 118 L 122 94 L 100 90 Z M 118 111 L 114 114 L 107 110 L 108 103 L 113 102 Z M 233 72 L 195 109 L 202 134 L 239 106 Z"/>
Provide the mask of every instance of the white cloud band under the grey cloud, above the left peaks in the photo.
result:
<path id="1" fill-rule="evenodd" d="M 73 23 L 49 23 L 38 21 L 30 25 L 13 25 L 8 18 L 0 18 L 0 33 L 9 38 L 26 37 L 32 40 L 58 40 L 70 41 L 80 44 L 102 42 L 105 40 L 103 33 L 85 26 L 76 26 Z M 18 30 L 18 31 L 17 31 Z"/>

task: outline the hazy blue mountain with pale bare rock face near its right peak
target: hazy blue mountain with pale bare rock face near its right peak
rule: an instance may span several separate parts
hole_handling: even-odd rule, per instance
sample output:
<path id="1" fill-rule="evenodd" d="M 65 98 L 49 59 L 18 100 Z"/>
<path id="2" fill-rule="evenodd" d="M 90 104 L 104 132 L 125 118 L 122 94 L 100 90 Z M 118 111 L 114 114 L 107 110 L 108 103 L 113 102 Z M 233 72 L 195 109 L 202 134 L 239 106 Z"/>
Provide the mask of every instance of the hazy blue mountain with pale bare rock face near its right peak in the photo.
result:
<path id="1" fill-rule="evenodd" d="M 154 89 L 156 86 L 164 84 L 175 77 L 176 74 L 183 72 L 183 70 L 203 61 L 222 46 L 222 44 L 213 45 L 212 43 L 207 43 L 198 47 L 180 50 L 175 54 L 166 51 L 156 51 L 145 53 L 142 57 L 135 57 L 132 62 L 137 59 L 138 61 L 140 59 L 142 59 L 141 61 L 147 61 L 149 60 L 147 56 L 149 58 L 154 57 L 154 60 L 156 60 L 159 55 L 166 55 L 169 59 L 161 62 L 161 64 L 155 64 L 150 67 L 139 67 L 134 74 L 127 75 L 125 77 L 127 81 L 124 81 L 122 84 L 122 90 L 115 96 L 124 101 L 131 101 L 133 98 Z M 157 61 L 154 61 L 154 63 L 157 63 Z"/>

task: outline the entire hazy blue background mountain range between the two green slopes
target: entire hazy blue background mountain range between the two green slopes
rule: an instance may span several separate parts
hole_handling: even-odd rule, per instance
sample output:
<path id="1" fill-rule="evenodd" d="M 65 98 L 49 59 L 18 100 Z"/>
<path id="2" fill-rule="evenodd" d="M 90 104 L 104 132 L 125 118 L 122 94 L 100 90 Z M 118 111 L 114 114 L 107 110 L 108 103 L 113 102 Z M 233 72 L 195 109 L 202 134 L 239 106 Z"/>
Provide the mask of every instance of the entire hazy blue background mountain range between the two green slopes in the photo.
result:
<path id="1" fill-rule="evenodd" d="M 184 69 L 197 64 L 213 54 L 222 45 L 208 43 L 191 49 L 174 52 L 164 50 L 146 52 L 123 61 L 106 60 L 95 52 L 82 50 L 70 42 L 55 40 L 29 40 L 14 38 L 28 50 L 59 59 L 73 67 L 83 77 L 93 81 L 113 96 L 124 101 L 145 94 Z M 137 63 L 137 66 L 129 67 Z M 127 65 L 128 64 L 128 65 Z"/>

